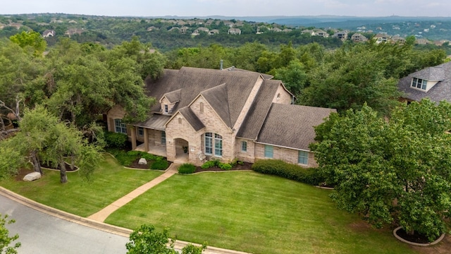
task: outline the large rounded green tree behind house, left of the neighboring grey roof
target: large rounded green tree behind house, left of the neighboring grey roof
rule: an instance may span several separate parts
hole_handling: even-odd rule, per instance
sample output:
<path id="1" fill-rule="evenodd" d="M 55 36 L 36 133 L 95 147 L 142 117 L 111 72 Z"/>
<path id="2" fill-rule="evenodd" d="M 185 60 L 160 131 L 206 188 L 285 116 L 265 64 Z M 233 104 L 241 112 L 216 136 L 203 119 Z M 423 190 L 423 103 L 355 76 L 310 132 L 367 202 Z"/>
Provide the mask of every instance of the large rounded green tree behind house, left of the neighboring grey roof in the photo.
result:
<path id="1" fill-rule="evenodd" d="M 385 76 L 388 63 L 380 55 L 353 47 L 328 58 L 309 73 L 310 85 L 302 91 L 299 104 L 345 111 L 360 109 L 366 102 L 381 114 L 398 104 L 397 79 Z"/>

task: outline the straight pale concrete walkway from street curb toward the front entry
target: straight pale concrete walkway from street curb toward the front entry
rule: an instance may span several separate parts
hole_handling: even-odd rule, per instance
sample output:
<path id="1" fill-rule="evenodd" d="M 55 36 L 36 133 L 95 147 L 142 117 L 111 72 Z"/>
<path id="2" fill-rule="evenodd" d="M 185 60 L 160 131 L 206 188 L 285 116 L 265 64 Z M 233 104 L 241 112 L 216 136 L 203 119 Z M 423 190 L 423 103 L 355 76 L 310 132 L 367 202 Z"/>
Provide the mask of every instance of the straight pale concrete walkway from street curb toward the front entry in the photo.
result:
<path id="1" fill-rule="evenodd" d="M 104 222 L 107 217 L 110 216 L 113 212 L 118 210 L 123 205 L 127 204 L 137 196 L 141 195 L 142 193 L 149 191 L 150 188 L 156 186 L 157 184 L 161 183 L 162 181 L 168 179 L 169 177 L 173 176 L 175 173 L 177 173 L 177 169 L 180 166 L 180 164 L 173 163 L 171 166 L 162 174 L 161 176 L 158 176 L 156 179 L 153 179 L 152 181 L 149 181 L 148 183 L 144 183 L 144 185 L 136 188 L 134 191 L 128 193 L 127 195 L 123 196 L 122 198 L 119 198 L 118 200 L 112 202 L 110 205 L 106 206 L 104 209 L 100 210 L 99 212 L 96 212 L 88 217 L 88 219 L 94 219 L 97 222 Z"/>

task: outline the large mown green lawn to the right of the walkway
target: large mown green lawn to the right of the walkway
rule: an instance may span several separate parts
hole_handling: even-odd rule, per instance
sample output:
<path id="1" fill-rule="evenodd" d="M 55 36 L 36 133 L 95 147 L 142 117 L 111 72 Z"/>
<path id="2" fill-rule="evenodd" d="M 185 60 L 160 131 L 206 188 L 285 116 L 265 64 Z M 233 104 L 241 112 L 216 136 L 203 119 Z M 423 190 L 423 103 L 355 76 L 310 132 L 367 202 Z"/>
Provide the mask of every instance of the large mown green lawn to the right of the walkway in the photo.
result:
<path id="1" fill-rule="evenodd" d="M 249 171 L 175 175 L 106 222 L 169 227 L 180 240 L 250 253 L 416 253 L 337 210 L 329 193 Z"/>

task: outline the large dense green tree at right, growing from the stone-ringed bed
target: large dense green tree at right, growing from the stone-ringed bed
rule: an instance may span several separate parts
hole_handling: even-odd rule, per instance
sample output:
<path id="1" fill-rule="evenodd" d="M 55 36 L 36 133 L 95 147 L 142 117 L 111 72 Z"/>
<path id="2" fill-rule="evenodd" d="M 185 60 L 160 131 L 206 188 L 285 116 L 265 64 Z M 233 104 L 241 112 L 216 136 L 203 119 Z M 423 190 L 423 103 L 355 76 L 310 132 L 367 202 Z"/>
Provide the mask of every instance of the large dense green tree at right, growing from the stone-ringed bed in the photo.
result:
<path id="1" fill-rule="evenodd" d="M 364 105 L 316 128 L 319 171 L 338 207 L 375 226 L 397 222 L 433 241 L 451 211 L 451 104 L 414 102 L 385 121 Z M 326 129 L 328 129 L 326 131 Z"/>

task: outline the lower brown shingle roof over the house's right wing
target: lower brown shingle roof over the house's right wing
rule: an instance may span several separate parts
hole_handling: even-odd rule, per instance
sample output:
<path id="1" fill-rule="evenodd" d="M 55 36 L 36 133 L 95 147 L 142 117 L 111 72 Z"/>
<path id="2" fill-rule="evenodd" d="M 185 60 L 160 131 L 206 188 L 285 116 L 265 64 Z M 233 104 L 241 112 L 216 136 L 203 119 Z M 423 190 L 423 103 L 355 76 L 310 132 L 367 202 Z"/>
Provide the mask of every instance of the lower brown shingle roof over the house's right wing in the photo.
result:
<path id="1" fill-rule="evenodd" d="M 323 123 L 335 109 L 273 103 L 257 142 L 309 150 L 314 126 Z"/>

